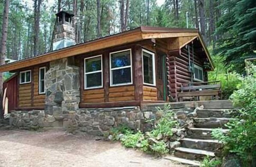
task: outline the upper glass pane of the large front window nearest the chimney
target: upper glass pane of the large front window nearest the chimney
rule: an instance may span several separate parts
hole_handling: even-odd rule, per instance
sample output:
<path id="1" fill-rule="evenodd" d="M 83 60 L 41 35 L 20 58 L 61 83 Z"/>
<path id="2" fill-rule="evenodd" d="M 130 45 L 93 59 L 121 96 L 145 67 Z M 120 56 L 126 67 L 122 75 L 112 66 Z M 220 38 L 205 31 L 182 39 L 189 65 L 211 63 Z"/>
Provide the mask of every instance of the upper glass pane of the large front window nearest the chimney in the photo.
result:
<path id="1" fill-rule="evenodd" d="M 85 72 L 93 72 L 101 70 L 101 57 L 90 58 L 85 60 Z"/>

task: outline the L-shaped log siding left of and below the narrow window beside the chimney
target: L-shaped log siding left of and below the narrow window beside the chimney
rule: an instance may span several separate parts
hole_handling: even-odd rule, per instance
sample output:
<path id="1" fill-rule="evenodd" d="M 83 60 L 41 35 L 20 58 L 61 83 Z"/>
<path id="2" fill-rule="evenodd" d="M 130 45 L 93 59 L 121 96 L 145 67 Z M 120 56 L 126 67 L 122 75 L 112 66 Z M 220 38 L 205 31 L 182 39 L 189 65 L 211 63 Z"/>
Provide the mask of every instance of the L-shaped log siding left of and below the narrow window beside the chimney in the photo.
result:
<path id="1" fill-rule="evenodd" d="M 34 78 L 34 96 L 33 96 L 33 107 L 44 107 L 45 106 L 45 94 L 39 94 L 39 67 L 33 69 Z"/>

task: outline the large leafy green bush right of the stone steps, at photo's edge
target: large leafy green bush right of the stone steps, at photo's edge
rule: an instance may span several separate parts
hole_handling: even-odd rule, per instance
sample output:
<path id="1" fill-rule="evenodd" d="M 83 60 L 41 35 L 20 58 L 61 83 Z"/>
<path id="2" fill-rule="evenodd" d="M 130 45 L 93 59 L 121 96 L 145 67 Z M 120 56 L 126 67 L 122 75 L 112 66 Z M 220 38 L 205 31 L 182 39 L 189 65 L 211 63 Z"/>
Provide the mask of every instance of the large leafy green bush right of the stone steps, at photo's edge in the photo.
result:
<path id="1" fill-rule="evenodd" d="M 226 135 L 218 130 L 212 133 L 225 144 L 224 154 L 237 154 L 247 166 L 256 158 L 256 66 L 250 66 L 249 71 L 252 75 L 243 77 L 230 97 L 241 120 L 226 124 L 230 129 Z"/>

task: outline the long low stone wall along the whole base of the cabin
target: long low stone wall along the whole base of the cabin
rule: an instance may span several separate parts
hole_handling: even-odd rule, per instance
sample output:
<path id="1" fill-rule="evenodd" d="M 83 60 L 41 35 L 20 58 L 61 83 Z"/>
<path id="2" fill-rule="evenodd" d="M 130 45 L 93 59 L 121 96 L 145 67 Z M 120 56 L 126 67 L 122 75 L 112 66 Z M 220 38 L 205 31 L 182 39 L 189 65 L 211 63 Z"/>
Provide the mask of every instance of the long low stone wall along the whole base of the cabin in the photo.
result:
<path id="1" fill-rule="evenodd" d="M 181 125 L 187 124 L 190 110 L 177 111 Z M 61 118 L 61 119 L 60 119 Z M 12 111 L 9 118 L 11 126 L 20 129 L 37 130 L 43 127 L 63 127 L 64 130 L 78 135 L 103 135 L 112 127 L 128 125 L 133 130 L 149 131 L 152 124 L 149 120 L 159 119 L 156 110 L 141 110 L 139 107 L 77 109 L 64 111 L 61 114 L 45 114 L 44 110 Z"/>

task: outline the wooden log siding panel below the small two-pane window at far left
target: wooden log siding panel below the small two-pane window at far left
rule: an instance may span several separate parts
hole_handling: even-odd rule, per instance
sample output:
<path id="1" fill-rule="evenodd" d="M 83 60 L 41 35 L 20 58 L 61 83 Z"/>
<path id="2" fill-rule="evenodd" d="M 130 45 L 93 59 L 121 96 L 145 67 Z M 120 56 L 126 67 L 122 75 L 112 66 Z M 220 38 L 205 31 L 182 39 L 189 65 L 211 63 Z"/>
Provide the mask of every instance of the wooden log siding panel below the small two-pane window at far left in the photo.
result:
<path id="1" fill-rule="evenodd" d="M 19 85 L 19 104 L 18 107 L 32 107 L 32 84 L 20 84 Z"/>

